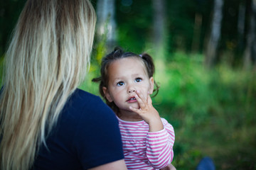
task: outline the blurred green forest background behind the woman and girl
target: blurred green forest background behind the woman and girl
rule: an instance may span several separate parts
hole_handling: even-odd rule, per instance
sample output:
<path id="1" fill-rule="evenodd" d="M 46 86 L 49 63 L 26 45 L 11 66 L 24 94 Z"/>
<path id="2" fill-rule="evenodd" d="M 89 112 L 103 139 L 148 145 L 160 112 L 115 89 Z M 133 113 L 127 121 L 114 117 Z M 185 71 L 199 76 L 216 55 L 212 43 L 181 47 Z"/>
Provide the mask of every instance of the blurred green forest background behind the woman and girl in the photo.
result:
<path id="1" fill-rule="evenodd" d="M 0 0 L 0 76 L 25 0 Z M 97 31 L 91 79 L 114 46 L 154 57 L 161 85 L 153 98 L 174 126 L 176 169 L 209 156 L 216 169 L 256 169 L 256 1 L 92 0 Z M 1 79 L 0 79 L 1 84 Z M 1 84 L 2 85 L 2 84 Z"/>

